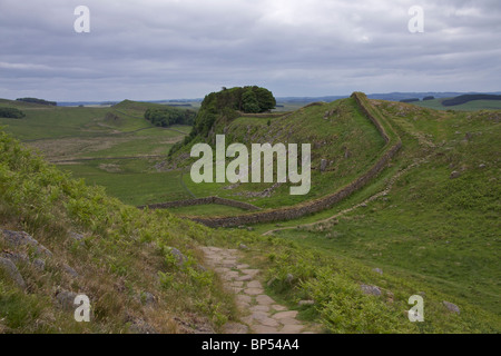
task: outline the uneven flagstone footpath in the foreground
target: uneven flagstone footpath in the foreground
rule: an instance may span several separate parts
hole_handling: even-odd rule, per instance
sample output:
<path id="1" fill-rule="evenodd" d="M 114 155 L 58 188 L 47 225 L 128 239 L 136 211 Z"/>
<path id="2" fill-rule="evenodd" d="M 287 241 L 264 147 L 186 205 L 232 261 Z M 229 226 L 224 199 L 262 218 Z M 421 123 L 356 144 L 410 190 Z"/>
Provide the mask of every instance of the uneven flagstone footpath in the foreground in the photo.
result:
<path id="1" fill-rule="evenodd" d="M 264 291 L 256 276 L 259 269 L 240 264 L 237 249 L 204 247 L 207 264 L 218 273 L 225 288 L 236 294 L 237 307 L 245 315 L 242 323 L 228 323 L 226 334 L 299 334 L 310 333 L 296 319 L 297 312 L 277 304 Z"/>

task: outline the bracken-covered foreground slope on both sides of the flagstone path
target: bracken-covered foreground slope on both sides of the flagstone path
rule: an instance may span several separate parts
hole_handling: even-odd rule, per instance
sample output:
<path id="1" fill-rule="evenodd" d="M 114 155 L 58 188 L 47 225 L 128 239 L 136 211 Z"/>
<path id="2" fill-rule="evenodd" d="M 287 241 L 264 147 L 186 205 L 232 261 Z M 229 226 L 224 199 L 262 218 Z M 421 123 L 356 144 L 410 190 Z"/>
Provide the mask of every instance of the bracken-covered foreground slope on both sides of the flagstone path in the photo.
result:
<path id="1" fill-rule="evenodd" d="M 232 298 L 222 293 L 212 271 L 197 267 L 197 246 L 250 248 L 245 258 L 263 268 L 263 281 L 273 280 L 268 293 L 297 308 L 297 300 L 314 298 L 314 306 L 299 307 L 305 320 L 322 322 L 333 333 L 495 332 L 492 314 L 461 304 L 461 314 L 448 312 L 441 300 L 456 301 L 430 288 L 428 281 L 405 273 L 383 276 L 351 257 L 332 258 L 324 251 L 279 237 L 263 238 L 245 230 L 212 230 L 179 220 L 166 211 L 143 211 L 108 198 L 102 190 L 69 179 L 40 158 L 32 157 L 6 135 L 0 137 L 0 225 L 26 230 L 53 253 L 41 274 L 18 263 L 26 290 L 0 271 L 0 330 L 3 333 L 126 333 L 135 324 L 157 332 L 186 332 L 194 327 L 216 328 L 235 318 Z M 85 236 L 84 244 L 69 238 Z M 189 256 L 184 268 L 169 257 L 167 246 Z M 9 248 L 1 246 L 2 249 Z M 80 277 L 68 278 L 62 264 Z M 287 279 L 287 274 L 293 279 Z M 380 297 L 366 296 L 360 284 L 382 287 Z M 53 300 L 58 289 L 85 293 L 94 310 L 91 323 L 79 324 L 72 310 Z M 426 291 L 423 324 L 407 320 L 410 295 Z M 145 293 L 156 304 L 145 306 Z M 499 320 L 498 320 L 499 322 Z"/>

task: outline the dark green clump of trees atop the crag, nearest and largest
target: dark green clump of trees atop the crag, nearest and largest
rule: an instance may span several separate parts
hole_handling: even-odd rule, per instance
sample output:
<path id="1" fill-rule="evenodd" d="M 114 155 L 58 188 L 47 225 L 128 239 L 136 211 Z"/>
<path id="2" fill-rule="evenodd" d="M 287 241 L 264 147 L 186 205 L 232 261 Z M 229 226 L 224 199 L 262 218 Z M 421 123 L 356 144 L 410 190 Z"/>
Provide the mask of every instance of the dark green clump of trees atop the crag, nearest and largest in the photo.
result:
<path id="1" fill-rule="evenodd" d="M 276 100 L 272 91 L 257 86 L 223 88 L 218 92 L 210 92 L 202 101 L 191 132 L 183 142 L 174 145 L 169 155 L 191 142 L 195 137 L 206 137 L 217 119 L 229 121 L 239 116 L 238 111 L 267 112 L 275 106 Z"/>

